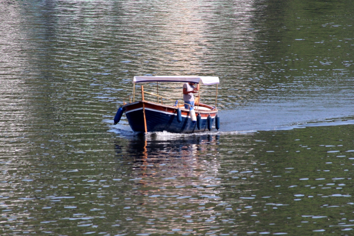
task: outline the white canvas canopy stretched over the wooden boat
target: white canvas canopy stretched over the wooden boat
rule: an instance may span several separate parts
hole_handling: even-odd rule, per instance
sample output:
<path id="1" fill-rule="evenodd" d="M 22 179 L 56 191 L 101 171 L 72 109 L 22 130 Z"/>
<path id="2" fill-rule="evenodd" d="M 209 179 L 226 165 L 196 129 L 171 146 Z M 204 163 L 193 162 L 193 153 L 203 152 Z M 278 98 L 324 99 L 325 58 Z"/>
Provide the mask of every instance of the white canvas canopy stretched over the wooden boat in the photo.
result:
<path id="1" fill-rule="evenodd" d="M 215 85 L 219 84 L 219 77 L 213 76 L 134 76 L 134 83 L 150 83 L 150 82 L 193 82 L 199 84 L 200 81 L 204 85 Z"/>

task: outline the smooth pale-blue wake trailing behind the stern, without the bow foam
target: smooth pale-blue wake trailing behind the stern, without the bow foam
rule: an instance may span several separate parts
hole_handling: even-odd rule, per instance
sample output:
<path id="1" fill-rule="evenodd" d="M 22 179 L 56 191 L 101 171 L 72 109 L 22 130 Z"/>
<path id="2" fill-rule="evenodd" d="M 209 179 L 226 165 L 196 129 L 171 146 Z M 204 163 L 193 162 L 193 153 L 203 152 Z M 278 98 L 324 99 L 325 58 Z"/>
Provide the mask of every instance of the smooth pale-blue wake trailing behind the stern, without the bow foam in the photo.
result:
<path id="1" fill-rule="evenodd" d="M 221 110 L 221 131 L 270 131 L 309 126 L 349 125 L 353 121 L 352 99 L 333 97 L 292 98 Z"/>

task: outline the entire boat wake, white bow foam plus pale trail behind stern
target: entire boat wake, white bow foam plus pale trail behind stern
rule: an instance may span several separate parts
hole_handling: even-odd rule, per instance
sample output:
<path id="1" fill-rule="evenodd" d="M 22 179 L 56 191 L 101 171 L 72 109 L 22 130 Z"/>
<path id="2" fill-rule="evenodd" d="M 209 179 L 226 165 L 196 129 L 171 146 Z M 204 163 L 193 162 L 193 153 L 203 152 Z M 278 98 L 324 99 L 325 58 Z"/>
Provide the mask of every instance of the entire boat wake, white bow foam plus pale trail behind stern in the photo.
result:
<path id="1" fill-rule="evenodd" d="M 228 135 L 228 134 L 251 134 L 258 131 L 290 130 L 296 128 L 316 126 L 338 126 L 354 124 L 354 105 L 351 103 L 339 103 L 316 100 L 296 100 L 296 102 L 268 102 L 240 106 L 235 110 L 221 110 L 220 129 L 215 128 L 198 134 L 180 134 L 170 132 L 148 132 L 145 136 L 151 138 L 178 138 L 198 135 Z M 349 115 L 348 115 L 349 114 Z M 113 120 L 104 120 L 110 123 L 109 132 L 119 136 L 142 135 L 133 132 L 125 117 L 113 125 Z"/>

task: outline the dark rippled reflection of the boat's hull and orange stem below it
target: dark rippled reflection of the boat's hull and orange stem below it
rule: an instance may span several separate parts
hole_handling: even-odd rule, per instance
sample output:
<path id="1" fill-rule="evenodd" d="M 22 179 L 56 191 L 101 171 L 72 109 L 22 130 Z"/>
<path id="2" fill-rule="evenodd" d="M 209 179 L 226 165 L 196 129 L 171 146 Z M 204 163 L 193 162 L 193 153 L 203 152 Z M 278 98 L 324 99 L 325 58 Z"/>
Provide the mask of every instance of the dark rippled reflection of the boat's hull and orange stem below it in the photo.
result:
<path id="1" fill-rule="evenodd" d="M 153 171 L 152 175 L 164 177 L 166 174 L 176 174 L 176 176 L 183 174 L 186 168 L 209 170 L 212 168 L 213 172 L 217 171 L 217 166 L 205 160 L 201 160 L 201 155 L 207 157 L 216 157 L 218 135 L 202 135 L 202 136 L 160 136 L 160 132 L 151 133 L 150 136 L 134 136 L 130 137 L 129 144 L 126 150 L 122 150 L 120 145 L 116 145 L 117 154 L 129 153 L 122 156 L 122 161 L 130 161 L 138 165 L 140 169 L 148 170 L 147 167 L 162 167 L 169 166 L 168 173 L 162 169 L 161 172 Z M 208 153 L 206 153 L 208 152 Z M 216 160 L 216 159 L 215 159 Z M 181 172 L 181 169 L 184 170 Z M 210 169 L 211 170 L 211 169 Z M 177 172 L 175 172 L 177 171 Z M 134 173 L 133 175 L 144 175 L 146 173 Z M 200 173 L 194 173 L 191 176 L 199 176 Z M 189 176 L 189 175 L 188 175 Z"/>

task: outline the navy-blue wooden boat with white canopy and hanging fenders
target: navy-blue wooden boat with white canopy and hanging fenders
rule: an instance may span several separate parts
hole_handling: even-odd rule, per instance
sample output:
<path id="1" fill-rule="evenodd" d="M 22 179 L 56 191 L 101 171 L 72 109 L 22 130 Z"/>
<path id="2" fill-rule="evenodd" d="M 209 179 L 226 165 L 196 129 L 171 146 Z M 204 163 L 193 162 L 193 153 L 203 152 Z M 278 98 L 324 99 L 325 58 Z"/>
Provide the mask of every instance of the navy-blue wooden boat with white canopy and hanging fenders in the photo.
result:
<path id="1" fill-rule="evenodd" d="M 195 97 L 194 107 L 184 108 L 184 102 L 160 96 L 158 94 L 159 82 L 193 82 L 194 84 L 215 85 L 215 105 L 207 105 L 200 102 L 200 89 Z M 144 85 L 156 83 L 157 93 L 144 91 Z M 137 84 L 141 85 L 141 91 L 135 92 Z M 220 126 L 217 109 L 217 86 L 219 78 L 214 76 L 134 76 L 132 94 L 123 99 L 123 105 L 118 109 L 114 124 L 118 123 L 125 113 L 130 127 L 135 132 L 167 131 L 171 133 L 197 133 L 211 131 L 213 126 L 218 130 Z M 135 101 L 136 96 L 141 100 Z M 157 102 L 145 100 L 146 94 L 157 97 Z M 150 96 L 149 96 L 150 97 Z M 129 102 L 125 102 L 129 98 Z M 162 100 L 164 99 L 164 101 Z M 167 104 L 169 101 L 175 104 Z M 183 99 L 182 99 L 183 101 Z"/>

